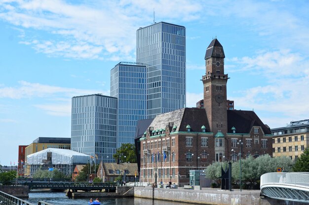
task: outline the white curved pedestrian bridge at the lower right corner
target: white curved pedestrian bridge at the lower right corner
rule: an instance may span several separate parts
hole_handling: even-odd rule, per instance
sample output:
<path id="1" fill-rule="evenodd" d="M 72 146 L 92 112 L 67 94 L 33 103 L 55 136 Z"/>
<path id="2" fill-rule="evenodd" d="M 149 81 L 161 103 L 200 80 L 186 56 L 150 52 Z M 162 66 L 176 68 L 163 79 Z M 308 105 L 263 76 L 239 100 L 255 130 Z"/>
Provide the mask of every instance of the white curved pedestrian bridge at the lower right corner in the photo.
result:
<path id="1" fill-rule="evenodd" d="M 270 172 L 261 176 L 261 195 L 309 203 L 309 172 Z"/>

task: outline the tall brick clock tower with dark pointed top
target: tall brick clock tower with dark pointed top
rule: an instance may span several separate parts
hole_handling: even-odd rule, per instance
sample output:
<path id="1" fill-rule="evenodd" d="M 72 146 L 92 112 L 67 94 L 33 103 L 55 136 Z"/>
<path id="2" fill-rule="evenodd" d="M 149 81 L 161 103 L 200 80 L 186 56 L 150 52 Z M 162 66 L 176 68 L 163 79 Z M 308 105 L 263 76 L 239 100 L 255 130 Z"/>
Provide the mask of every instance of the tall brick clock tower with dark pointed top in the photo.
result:
<path id="1" fill-rule="evenodd" d="M 224 74 L 224 51 L 221 43 L 214 39 L 206 49 L 206 75 L 204 85 L 204 108 L 211 132 L 215 137 L 224 137 L 228 131 L 227 82 Z"/>

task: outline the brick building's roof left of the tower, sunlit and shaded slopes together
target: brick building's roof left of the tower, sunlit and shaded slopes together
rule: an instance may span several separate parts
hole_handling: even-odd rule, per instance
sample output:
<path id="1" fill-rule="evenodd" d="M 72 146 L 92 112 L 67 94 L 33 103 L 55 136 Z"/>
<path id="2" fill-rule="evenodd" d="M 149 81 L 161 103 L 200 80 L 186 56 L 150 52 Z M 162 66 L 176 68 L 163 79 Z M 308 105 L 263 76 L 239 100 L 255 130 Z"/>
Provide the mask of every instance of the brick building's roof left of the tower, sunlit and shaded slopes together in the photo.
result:
<path id="1" fill-rule="evenodd" d="M 200 132 L 201 127 L 206 127 L 206 132 L 210 132 L 205 109 L 203 108 L 183 108 L 169 113 L 157 115 L 150 126 L 154 129 L 165 128 L 168 123 L 177 126 L 176 131 L 187 131 L 186 126 L 191 126 L 191 131 Z"/>

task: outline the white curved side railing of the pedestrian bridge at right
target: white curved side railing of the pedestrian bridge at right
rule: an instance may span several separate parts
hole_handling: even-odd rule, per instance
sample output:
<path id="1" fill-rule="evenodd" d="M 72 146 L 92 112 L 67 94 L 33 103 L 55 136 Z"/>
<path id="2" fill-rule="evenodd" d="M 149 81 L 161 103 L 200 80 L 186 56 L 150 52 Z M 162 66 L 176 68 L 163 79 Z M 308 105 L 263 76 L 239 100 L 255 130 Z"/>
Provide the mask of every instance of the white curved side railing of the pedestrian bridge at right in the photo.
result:
<path id="1" fill-rule="evenodd" d="M 261 176 L 260 188 L 264 185 L 280 184 L 309 188 L 309 172 L 270 172 Z"/>

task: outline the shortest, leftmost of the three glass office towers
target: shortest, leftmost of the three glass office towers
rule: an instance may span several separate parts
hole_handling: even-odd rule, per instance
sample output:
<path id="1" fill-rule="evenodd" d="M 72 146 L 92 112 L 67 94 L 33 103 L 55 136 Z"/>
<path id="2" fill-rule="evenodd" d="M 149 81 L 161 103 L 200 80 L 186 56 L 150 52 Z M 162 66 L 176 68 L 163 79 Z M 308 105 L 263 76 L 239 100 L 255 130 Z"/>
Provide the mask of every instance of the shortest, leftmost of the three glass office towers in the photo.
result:
<path id="1" fill-rule="evenodd" d="M 117 98 L 102 94 L 72 98 L 71 150 L 94 157 L 96 164 L 114 162 Z"/>

